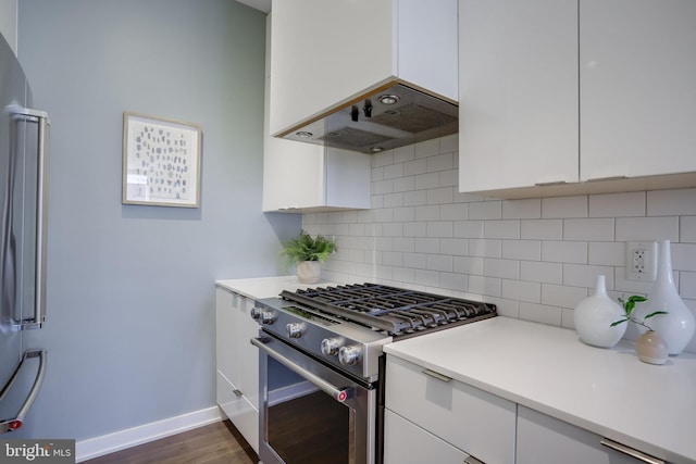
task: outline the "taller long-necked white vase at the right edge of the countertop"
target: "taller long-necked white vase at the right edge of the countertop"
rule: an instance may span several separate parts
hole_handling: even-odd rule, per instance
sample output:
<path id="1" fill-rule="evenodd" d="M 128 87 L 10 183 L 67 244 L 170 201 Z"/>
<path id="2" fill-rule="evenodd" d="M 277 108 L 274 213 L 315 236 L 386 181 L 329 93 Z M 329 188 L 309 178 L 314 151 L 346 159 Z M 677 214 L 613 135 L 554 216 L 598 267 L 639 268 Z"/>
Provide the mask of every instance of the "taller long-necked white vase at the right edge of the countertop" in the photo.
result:
<path id="1" fill-rule="evenodd" d="M 667 314 L 650 317 L 646 321 L 646 324 L 664 340 L 670 354 L 681 353 L 694 336 L 696 323 L 694 315 L 688 306 L 684 304 L 674 286 L 669 240 L 660 241 L 657 278 L 648 291 L 647 299 L 648 301 L 636 304 L 634 310 L 635 317 L 642 319 L 655 311 L 667 312 Z M 638 326 L 641 334 L 646 330 L 645 327 Z"/>

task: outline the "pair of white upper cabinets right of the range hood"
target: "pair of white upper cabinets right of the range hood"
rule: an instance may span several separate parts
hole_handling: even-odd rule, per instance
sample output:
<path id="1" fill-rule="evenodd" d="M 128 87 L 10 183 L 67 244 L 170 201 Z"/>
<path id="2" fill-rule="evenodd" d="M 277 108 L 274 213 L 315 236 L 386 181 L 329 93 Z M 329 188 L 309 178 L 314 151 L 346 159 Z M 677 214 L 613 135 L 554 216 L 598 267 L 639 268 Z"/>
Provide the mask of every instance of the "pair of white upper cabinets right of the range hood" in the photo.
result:
<path id="1" fill-rule="evenodd" d="M 696 185 L 695 24 L 689 0 L 462 0 L 460 190 Z"/>

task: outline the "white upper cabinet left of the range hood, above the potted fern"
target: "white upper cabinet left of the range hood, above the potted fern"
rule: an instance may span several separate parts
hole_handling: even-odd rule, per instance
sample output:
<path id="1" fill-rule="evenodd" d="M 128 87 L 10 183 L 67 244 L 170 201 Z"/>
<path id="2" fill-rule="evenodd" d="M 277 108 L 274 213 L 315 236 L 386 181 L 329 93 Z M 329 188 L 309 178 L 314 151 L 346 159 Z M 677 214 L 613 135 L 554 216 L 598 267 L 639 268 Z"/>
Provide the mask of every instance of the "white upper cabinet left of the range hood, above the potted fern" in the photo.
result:
<path id="1" fill-rule="evenodd" d="M 371 156 L 269 135 L 272 15 L 266 20 L 263 211 L 369 209 Z"/>

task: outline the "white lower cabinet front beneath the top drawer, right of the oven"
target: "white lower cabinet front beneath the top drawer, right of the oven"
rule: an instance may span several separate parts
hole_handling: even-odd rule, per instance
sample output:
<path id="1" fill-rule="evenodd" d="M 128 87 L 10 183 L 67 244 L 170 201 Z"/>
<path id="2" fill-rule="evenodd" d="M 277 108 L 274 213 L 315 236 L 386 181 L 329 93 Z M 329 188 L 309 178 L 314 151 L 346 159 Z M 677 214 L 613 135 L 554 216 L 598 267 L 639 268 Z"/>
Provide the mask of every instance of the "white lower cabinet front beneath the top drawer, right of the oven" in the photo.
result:
<path id="1" fill-rule="evenodd" d="M 467 453 L 398 414 L 384 412 L 384 464 L 462 464 Z"/>

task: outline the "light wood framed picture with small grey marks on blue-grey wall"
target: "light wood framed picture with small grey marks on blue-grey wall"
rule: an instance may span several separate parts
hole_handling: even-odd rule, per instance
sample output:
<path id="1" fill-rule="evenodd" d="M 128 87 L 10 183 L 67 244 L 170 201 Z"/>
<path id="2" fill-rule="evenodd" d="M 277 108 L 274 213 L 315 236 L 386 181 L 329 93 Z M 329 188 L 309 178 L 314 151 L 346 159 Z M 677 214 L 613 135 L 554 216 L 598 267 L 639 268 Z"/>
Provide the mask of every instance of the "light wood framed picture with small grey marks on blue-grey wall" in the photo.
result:
<path id="1" fill-rule="evenodd" d="M 200 205 L 198 124 L 123 113 L 123 203 Z"/>

